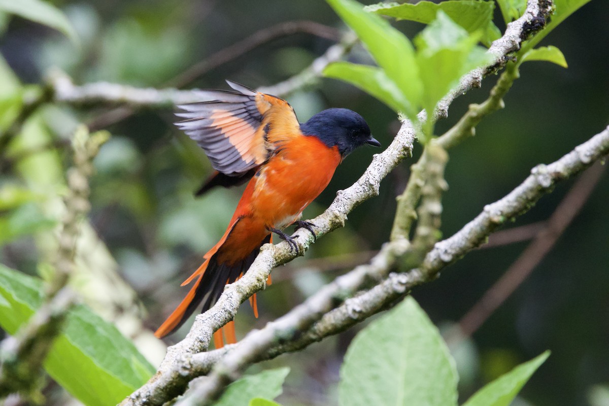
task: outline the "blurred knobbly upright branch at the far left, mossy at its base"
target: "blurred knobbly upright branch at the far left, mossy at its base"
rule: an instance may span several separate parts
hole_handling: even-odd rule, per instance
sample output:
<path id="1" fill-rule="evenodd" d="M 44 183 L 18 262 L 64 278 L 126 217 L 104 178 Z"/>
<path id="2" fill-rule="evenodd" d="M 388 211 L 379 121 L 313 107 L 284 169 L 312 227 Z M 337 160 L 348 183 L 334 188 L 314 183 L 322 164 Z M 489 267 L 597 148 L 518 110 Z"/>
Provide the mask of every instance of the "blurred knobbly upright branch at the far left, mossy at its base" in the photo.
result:
<path id="1" fill-rule="evenodd" d="M 80 222 L 90 209 L 88 177 L 93 172 L 91 159 L 107 138 L 106 133 L 96 133 L 90 137 L 83 127 L 74 134 L 74 166 L 67 174 L 69 193 L 65 198 L 66 212 L 57 235 L 54 275 L 46 285 L 43 306 L 15 337 L 2 341 L 0 398 L 19 392 L 29 399 L 40 400 L 41 395 L 36 390 L 41 382 L 42 364 L 55 337 L 62 331 L 63 321 L 74 303 L 74 293 L 66 284 L 74 267 Z"/>

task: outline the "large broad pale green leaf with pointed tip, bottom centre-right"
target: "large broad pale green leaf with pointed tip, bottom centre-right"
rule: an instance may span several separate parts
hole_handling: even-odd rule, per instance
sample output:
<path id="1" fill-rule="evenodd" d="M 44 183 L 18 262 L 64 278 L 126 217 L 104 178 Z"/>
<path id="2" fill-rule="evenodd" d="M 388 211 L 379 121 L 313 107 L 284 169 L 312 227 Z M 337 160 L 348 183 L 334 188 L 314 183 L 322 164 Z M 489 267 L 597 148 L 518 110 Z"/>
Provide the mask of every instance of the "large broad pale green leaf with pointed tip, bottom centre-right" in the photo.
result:
<path id="1" fill-rule="evenodd" d="M 457 404 L 448 348 L 411 297 L 356 335 L 340 376 L 341 406 Z"/>

